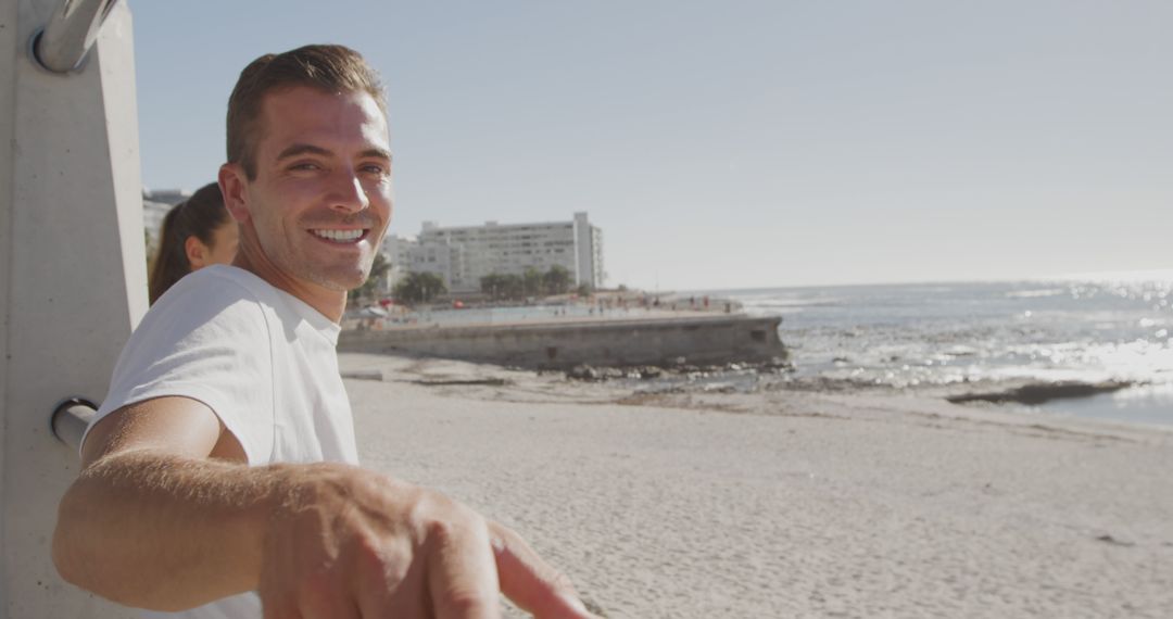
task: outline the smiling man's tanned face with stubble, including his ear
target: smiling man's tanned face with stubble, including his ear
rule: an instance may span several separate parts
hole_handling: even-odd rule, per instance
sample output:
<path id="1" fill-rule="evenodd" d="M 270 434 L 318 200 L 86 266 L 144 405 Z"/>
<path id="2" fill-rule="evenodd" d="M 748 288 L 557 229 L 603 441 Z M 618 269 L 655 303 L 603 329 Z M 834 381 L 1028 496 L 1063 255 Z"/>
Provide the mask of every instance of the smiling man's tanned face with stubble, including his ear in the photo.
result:
<path id="1" fill-rule="evenodd" d="M 257 132 L 257 176 L 228 200 L 240 251 L 282 288 L 361 285 L 392 210 L 387 121 L 374 98 L 277 90 L 263 100 Z"/>

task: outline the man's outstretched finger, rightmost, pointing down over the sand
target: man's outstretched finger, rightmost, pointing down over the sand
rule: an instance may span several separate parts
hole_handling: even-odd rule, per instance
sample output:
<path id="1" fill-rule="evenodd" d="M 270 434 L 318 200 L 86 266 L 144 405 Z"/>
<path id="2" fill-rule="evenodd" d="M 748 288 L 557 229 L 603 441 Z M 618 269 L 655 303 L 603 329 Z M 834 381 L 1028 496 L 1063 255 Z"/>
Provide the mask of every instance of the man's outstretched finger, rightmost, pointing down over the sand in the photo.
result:
<path id="1" fill-rule="evenodd" d="M 595 619 L 570 579 L 551 567 L 517 533 L 489 523 L 501 592 L 535 619 Z"/>

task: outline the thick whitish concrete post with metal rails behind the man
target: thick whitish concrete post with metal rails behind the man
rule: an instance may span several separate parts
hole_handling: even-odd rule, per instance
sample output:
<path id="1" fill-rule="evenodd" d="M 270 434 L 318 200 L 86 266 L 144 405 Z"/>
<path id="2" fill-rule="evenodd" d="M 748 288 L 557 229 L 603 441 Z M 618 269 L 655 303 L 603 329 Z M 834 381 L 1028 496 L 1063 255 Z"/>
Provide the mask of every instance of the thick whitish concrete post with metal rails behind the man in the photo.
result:
<path id="1" fill-rule="evenodd" d="M 129 617 L 53 567 L 77 456 L 48 419 L 69 396 L 101 402 L 147 307 L 130 12 L 114 5 L 83 63 L 55 74 L 29 48 L 57 0 L 0 7 L 0 618 Z"/>

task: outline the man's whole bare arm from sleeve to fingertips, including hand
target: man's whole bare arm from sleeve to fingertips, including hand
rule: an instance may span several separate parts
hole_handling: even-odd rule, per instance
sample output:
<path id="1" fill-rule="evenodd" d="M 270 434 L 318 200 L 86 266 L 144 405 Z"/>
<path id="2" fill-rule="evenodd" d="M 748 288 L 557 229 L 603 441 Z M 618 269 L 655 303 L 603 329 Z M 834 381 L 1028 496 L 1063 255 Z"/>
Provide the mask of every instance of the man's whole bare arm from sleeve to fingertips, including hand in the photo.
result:
<path id="1" fill-rule="evenodd" d="M 174 611 L 258 590 L 266 617 L 589 617 L 511 531 L 345 464 L 246 467 L 206 406 L 161 397 L 89 433 L 53 557 L 69 581 Z M 500 572 L 500 578 L 499 578 Z"/>

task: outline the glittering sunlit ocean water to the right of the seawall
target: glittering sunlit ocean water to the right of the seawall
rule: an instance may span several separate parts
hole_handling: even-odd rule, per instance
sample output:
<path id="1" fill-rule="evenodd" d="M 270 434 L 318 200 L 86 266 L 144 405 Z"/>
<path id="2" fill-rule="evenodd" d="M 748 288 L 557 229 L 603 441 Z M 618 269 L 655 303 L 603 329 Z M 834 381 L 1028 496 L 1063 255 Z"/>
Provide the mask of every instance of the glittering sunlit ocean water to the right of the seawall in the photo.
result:
<path id="1" fill-rule="evenodd" d="M 1123 381 L 1133 386 L 1012 408 L 1173 426 L 1173 273 L 707 293 L 780 315 L 799 380 L 913 392 Z"/>

